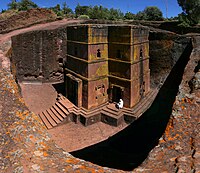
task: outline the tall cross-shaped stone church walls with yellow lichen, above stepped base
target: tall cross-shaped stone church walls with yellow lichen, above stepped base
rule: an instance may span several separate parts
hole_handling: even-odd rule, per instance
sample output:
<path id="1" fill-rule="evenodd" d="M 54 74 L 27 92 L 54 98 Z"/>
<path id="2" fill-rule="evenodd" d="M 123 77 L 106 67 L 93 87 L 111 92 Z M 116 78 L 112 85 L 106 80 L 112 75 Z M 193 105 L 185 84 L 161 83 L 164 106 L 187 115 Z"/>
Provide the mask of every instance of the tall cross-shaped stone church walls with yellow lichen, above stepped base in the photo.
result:
<path id="1" fill-rule="evenodd" d="M 68 26 L 66 97 L 89 110 L 119 99 L 134 107 L 150 90 L 148 36 L 134 25 Z"/>

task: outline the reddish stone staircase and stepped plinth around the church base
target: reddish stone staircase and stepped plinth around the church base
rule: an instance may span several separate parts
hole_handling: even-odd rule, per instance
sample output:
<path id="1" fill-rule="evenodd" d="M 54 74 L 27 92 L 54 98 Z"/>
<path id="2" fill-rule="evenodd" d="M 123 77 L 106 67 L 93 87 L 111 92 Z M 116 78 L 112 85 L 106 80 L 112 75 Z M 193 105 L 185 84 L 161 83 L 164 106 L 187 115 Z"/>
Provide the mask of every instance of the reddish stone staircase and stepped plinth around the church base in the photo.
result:
<path id="1" fill-rule="evenodd" d="M 92 110 L 78 108 L 67 98 L 59 95 L 58 101 L 51 108 L 38 115 L 47 129 L 69 121 L 81 122 L 85 126 L 99 121 L 118 126 L 124 121 L 131 123 L 139 118 L 151 106 L 157 93 L 158 89 L 152 90 L 133 108 L 117 109 L 114 103 L 106 103 Z"/>

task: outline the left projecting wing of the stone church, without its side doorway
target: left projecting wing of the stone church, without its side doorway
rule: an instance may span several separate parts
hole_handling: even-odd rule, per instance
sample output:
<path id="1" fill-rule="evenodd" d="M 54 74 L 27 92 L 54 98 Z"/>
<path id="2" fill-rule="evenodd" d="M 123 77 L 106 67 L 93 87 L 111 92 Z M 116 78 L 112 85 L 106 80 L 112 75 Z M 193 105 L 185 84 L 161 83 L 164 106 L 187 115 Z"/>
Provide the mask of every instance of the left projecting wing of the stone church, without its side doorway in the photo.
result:
<path id="1" fill-rule="evenodd" d="M 83 81 L 83 95 L 79 97 L 86 109 L 98 107 L 108 101 L 107 37 L 106 25 L 67 27 L 66 72 Z"/>

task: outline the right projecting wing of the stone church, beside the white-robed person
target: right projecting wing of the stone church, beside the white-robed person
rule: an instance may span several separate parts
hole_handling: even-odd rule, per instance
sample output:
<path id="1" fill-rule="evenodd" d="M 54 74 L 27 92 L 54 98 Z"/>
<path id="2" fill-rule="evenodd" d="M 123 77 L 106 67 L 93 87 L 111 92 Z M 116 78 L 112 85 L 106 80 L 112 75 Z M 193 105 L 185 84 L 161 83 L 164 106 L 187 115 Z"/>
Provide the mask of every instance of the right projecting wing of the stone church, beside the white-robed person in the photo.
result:
<path id="1" fill-rule="evenodd" d="M 109 26 L 108 35 L 109 85 L 122 87 L 121 94 L 111 87 L 110 95 L 121 95 L 124 106 L 133 107 L 150 90 L 149 29 L 113 25 Z"/>

